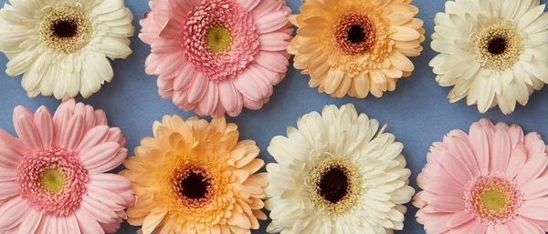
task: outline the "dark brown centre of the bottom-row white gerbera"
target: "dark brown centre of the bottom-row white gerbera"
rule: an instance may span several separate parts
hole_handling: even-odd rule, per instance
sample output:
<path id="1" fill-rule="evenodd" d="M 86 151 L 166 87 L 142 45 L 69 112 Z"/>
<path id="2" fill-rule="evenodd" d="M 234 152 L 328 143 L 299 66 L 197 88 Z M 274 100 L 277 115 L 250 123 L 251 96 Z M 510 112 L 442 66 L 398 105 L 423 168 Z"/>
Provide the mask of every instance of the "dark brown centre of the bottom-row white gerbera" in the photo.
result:
<path id="1" fill-rule="evenodd" d="M 342 168 L 330 168 L 321 176 L 320 196 L 331 203 L 337 203 L 348 194 L 348 176 Z"/>

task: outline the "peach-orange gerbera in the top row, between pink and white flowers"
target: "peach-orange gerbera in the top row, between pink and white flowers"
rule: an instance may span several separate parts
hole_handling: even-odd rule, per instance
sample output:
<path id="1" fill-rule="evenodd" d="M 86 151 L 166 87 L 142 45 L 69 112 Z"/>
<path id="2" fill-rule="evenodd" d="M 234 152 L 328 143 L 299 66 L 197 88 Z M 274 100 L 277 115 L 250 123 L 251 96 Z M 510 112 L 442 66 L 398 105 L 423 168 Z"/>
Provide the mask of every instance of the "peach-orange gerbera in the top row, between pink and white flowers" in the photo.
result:
<path id="1" fill-rule="evenodd" d="M 332 97 L 382 97 L 415 66 L 425 40 L 418 8 L 409 0 L 310 0 L 290 21 L 297 36 L 288 51 L 309 86 Z"/>

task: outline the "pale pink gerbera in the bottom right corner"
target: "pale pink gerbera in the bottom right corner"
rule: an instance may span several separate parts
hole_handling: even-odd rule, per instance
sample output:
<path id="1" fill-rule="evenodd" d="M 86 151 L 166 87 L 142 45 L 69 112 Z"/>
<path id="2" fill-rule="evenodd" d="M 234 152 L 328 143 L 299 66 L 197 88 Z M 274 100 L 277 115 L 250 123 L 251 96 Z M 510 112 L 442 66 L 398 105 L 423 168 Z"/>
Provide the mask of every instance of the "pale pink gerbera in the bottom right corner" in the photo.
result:
<path id="1" fill-rule="evenodd" d="M 434 143 L 414 205 L 428 234 L 544 234 L 548 157 L 537 133 L 482 119 Z"/>

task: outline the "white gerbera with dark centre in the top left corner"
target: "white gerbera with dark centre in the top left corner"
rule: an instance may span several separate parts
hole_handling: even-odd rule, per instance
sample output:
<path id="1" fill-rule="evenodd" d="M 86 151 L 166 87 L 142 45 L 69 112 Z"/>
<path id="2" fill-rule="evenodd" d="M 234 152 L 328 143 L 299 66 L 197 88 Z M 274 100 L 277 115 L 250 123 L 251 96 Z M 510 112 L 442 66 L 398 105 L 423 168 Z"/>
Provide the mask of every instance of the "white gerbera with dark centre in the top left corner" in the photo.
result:
<path id="1" fill-rule="evenodd" d="M 123 0 L 9 0 L 0 10 L 5 72 L 23 75 L 28 97 L 90 97 L 132 54 L 132 13 Z"/>

